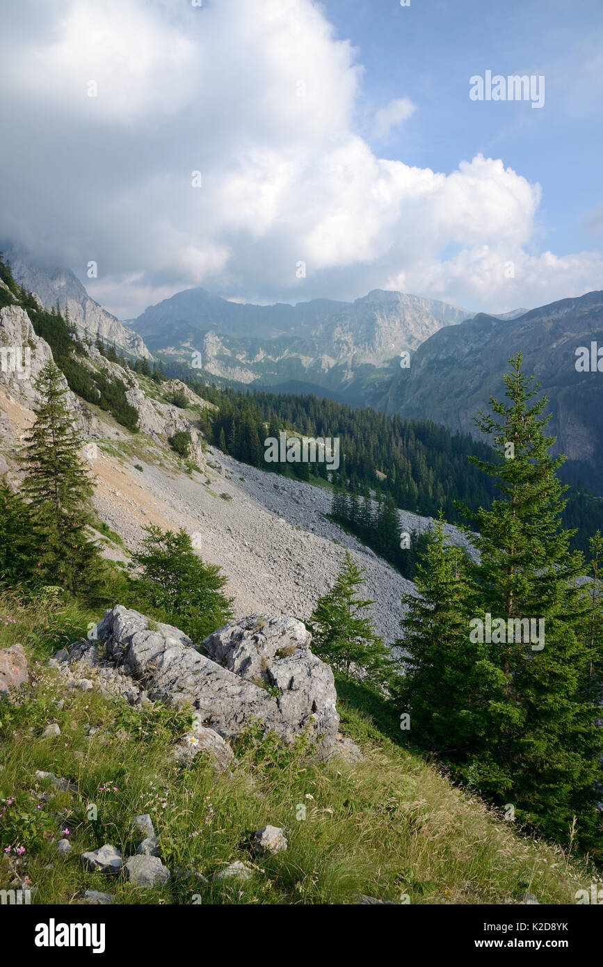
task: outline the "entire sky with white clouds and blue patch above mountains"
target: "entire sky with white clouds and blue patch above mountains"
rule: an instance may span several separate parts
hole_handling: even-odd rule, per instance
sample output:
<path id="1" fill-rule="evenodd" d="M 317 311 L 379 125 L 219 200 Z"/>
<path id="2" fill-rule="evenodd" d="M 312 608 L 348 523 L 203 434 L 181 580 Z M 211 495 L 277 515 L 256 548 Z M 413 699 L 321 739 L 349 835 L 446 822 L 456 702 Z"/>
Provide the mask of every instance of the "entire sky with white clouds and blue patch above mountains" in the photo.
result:
<path id="1" fill-rule="evenodd" d="M 5 0 L 0 84 L 0 238 L 119 318 L 603 288 L 601 0 Z"/>

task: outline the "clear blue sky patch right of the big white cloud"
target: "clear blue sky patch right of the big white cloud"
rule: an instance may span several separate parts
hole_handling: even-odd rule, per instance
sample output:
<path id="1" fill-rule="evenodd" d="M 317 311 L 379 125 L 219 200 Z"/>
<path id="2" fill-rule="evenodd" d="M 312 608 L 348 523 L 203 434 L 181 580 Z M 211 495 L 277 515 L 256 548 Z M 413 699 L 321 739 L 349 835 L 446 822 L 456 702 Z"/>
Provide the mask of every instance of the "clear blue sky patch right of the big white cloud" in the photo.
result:
<path id="1" fill-rule="evenodd" d="M 501 157 L 542 186 L 538 249 L 601 247 L 603 216 L 596 235 L 586 224 L 603 204 L 600 0 L 411 0 L 406 8 L 328 0 L 325 8 L 365 68 L 359 124 L 394 98 L 417 105 L 387 141 L 371 140 L 375 151 L 445 172 L 478 152 Z M 544 107 L 470 101 L 470 76 L 488 69 L 544 74 Z"/>

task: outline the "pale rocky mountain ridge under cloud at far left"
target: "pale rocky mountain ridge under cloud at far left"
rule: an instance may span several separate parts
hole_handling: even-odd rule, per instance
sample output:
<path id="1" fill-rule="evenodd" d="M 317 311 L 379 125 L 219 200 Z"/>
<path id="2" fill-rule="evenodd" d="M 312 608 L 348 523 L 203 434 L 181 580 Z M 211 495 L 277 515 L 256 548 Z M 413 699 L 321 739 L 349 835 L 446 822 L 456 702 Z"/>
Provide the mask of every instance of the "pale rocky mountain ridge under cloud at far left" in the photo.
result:
<path id="1" fill-rule="evenodd" d="M 100 337 L 115 342 L 132 356 L 151 358 L 144 340 L 91 299 L 71 269 L 32 259 L 26 251 L 15 249 L 10 243 L 0 245 L 0 250 L 11 262 L 15 281 L 35 292 L 43 306 L 52 308 L 58 300 L 61 311 L 69 310 L 70 319 L 79 330 L 99 333 Z"/>

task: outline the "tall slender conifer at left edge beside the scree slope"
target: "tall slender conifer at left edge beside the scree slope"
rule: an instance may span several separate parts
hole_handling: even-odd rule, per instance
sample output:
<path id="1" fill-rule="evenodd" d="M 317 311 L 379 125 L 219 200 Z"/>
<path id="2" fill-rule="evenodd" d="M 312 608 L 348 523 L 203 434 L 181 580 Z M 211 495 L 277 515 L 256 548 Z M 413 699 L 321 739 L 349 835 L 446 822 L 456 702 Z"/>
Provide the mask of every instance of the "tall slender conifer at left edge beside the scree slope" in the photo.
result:
<path id="1" fill-rule="evenodd" d="M 43 366 L 36 388 L 42 399 L 34 404 L 36 421 L 19 455 L 34 519 L 35 568 L 45 583 L 77 594 L 98 579 L 100 553 L 86 531 L 94 487 L 79 454 L 82 440 L 67 406 L 64 377 L 52 361 Z"/>

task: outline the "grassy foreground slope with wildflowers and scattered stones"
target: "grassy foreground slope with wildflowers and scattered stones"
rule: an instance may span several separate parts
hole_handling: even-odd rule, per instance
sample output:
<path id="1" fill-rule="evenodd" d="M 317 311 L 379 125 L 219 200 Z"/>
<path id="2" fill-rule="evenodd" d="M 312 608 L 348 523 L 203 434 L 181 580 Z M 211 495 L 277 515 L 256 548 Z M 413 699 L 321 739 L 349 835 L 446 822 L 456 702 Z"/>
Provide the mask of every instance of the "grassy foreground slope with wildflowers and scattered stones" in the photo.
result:
<path id="1" fill-rule="evenodd" d="M 16 624 L 5 625 L 5 614 Z M 138 712 L 96 691 L 66 689 L 58 673 L 44 667 L 48 655 L 98 617 L 51 599 L 27 607 L 0 601 L 0 647 L 20 641 L 35 678 L 20 707 L 0 706 L 0 799 L 16 797 L 0 819 L 0 835 L 9 829 L 7 816 L 35 817 L 38 835 L 27 832 L 23 818 L 19 838 L 27 846 L 22 859 L 39 888 L 38 902 L 77 902 L 84 890 L 96 889 L 116 894 L 120 903 L 190 903 L 198 894 L 203 903 L 338 904 L 354 902 L 361 892 L 394 902 L 408 894 L 414 904 L 479 904 L 502 903 L 530 890 L 540 903 L 562 904 L 574 903 L 577 889 L 596 882 L 585 864 L 518 835 L 500 815 L 453 788 L 433 765 L 397 747 L 385 734 L 382 710 L 372 708 L 370 717 L 359 712 L 353 688 L 342 686 L 340 712 L 345 733 L 364 752 L 357 765 L 312 763 L 301 751 L 261 744 L 249 735 L 234 744 L 239 765 L 233 777 L 215 777 L 201 755 L 187 769 L 176 767 L 169 750 L 186 728 L 182 715 L 159 706 Z M 61 736 L 42 739 L 53 719 Z M 92 739 L 89 725 L 100 726 Z M 35 780 L 37 769 L 69 778 L 79 795 L 52 792 L 38 809 L 31 790 L 51 787 Z M 88 818 L 90 804 L 97 806 L 96 820 Z M 305 820 L 296 819 L 299 804 L 306 808 Z M 160 889 L 142 891 L 122 876 L 85 871 L 79 853 L 102 843 L 126 856 L 134 852 L 130 821 L 142 812 L 151 813 L 164 862 L 172 869 L 192 866 L 211 878 L 224 865 L 244 860 L 255 863 L 252 879 L 202 887 L 196 880 L 172 878 Z M 289 849 L 253 861 L 249 836 L 267 823 L 288 829 Z M 65 826 L 73 851 L 58 857 L 49 835 Z M 44 869 L 46 864 L 53 868 Z M 10 886 L 9 867 L 3 855 L 0 889 Z"/>

